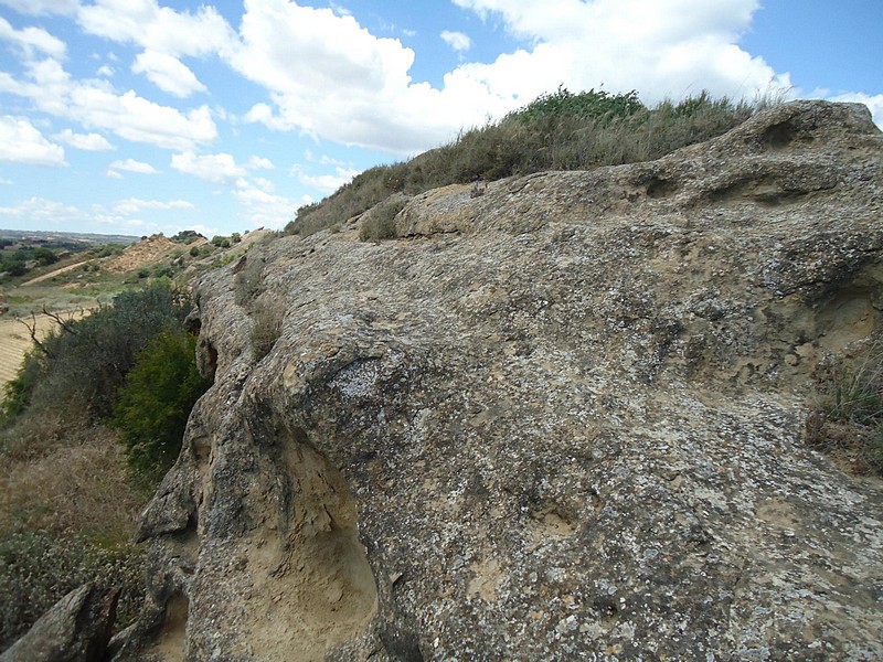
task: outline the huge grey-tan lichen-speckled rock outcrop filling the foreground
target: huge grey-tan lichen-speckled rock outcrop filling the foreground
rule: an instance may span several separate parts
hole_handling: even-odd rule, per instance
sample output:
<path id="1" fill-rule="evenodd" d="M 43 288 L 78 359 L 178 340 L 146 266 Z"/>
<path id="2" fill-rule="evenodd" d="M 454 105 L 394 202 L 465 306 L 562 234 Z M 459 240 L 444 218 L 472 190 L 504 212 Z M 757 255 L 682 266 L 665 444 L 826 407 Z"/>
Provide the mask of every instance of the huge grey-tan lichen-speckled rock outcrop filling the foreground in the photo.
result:
<path id="1" fill-rule="evenodd" d="M 205 275 L 118 659 L 880 658 L 880 484 L 800 428 L 880 329 L 882 183 L 866 109 L 795 103 Z"/>

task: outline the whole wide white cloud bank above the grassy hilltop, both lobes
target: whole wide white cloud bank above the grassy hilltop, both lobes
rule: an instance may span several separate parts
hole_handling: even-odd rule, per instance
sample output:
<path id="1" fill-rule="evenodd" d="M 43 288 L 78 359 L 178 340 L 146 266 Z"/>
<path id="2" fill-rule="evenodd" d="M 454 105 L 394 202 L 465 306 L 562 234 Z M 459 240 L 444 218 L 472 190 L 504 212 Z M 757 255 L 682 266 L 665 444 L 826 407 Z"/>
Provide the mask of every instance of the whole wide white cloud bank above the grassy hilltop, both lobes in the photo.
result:
<path id="1" fill-rule="evenodd" d="M 443 143 L 560 84 L 574 92 L 638 89 L 650 104 L 703 89 L 751 100 L 790 87 L 787 74 L 737 45 L 758 0 L 456 2 L 493 14 L 525 45 L 491 63 L 464 63 L 437 88 L 412 81 L 411 49 L 369 33 L 351 15 L 251 0 L 240 42 L 221 56 L 269 93 L 247 121 L 400 154 Z M 465 49 L 467 39 L 446 33 L 455 47 Z"/>

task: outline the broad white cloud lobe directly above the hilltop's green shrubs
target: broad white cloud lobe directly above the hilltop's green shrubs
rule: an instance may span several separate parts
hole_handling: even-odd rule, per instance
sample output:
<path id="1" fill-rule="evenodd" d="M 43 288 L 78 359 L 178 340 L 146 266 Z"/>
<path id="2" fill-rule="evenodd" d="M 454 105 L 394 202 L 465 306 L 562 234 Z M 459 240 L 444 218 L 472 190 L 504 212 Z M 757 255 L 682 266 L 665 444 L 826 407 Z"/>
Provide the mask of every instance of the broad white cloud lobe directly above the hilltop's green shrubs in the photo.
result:
<path id="1" fill-rule="evenodd" d="M 501 94 L 535 95 L 541 82 L 545 89 L 550 83 L 572 89 L 604 85 L 613 92 L 638 89 L 653 103 L 702 89 L 752 99 L 758 92 L 790 86 L 787 74 L 777 75 L 736 45 L 758 0 L 560 0 L 554 11 L 529 0 L 455 2 L 499 15 L 511 33 L 534 44 L 453 74 L 482 81 Z"/>

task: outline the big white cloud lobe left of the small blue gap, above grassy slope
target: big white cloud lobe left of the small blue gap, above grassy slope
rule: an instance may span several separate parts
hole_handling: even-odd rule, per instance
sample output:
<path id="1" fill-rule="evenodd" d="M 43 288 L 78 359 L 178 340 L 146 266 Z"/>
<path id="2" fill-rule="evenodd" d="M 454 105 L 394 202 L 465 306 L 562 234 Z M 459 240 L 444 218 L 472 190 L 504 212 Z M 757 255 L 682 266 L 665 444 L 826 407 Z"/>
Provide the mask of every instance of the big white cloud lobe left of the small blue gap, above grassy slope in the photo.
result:
<path id="1" fill-rule="evenodd" d="M 414 51 L 372 35 L 353 17 L 284 0 L 245 7 L 241 42 L 226 57 L 273 102 L 253 106 L 248 121 L 408 153 L 488 111 L 487 95 L 455 98 L 413 84 Z"/>

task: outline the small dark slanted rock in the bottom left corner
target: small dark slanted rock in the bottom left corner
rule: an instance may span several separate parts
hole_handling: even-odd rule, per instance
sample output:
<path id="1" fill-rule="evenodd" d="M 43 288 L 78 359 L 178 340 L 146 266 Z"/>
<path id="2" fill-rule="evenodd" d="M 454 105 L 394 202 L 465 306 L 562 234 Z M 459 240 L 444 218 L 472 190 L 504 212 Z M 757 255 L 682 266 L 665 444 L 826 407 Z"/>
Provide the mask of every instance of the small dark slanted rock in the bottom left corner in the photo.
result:
<path id="1" fill-rule="evenodd" d="M 119 590 L 85 584 L 58 600 L 2 655 L 2 662 L 102 662 Z"/>

